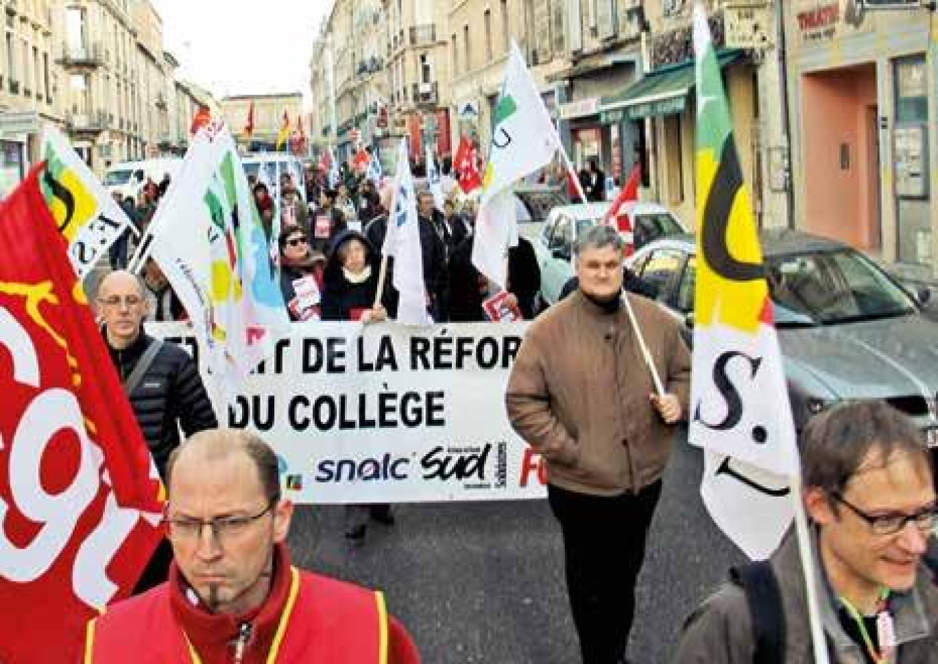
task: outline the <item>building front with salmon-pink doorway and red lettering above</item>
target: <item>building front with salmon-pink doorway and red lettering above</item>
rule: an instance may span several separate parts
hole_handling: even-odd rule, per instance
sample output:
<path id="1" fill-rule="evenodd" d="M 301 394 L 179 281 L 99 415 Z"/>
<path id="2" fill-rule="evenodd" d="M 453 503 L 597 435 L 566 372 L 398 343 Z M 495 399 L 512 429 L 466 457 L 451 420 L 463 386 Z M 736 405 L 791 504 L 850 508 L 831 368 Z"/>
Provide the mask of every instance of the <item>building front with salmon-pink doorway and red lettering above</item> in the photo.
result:
<path id="1" fill-rule="evenodd" d="M 906 276 L 933 279 L 930 12 L 795 0 L 785 18 L 797 225 L 867 250 Z"/>

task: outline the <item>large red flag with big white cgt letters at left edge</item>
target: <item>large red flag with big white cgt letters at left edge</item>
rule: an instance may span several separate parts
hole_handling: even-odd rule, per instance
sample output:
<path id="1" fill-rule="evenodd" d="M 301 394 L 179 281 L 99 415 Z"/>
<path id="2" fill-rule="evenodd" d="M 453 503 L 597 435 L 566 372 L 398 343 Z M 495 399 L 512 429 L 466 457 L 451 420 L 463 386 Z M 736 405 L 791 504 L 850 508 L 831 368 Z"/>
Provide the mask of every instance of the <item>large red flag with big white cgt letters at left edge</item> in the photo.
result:
<path id="1" fill-rule="evenodd" d="M 0 661 L 79 661 L 159 536 L 159 481 L 39 164 L 0 204 Z"/>

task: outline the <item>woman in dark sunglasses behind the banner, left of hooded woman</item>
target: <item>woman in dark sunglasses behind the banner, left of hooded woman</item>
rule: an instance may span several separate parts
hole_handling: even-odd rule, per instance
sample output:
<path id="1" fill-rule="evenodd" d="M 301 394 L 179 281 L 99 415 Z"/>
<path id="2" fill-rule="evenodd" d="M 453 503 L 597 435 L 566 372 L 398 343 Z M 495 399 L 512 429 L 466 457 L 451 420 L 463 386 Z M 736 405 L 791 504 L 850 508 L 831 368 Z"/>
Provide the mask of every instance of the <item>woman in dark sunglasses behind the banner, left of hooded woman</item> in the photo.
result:
<path id="1" fill-rule="evenodd" d="M 313 253 L 309 237 L 298 226 L 284 228 L 278 240 L 280 292 L 290 320 L 319 320 L 325 257 Z"/>

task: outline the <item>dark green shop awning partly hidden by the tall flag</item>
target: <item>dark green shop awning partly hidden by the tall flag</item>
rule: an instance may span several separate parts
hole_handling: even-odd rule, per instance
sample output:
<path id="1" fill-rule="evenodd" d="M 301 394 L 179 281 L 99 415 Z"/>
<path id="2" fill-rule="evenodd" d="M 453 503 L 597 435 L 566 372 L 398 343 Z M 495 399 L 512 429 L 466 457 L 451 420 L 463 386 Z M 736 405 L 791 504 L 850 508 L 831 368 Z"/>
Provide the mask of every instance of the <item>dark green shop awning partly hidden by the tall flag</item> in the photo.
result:
<path id="1" fill-rule="evenodd" d="M 742 56 L 743 52 L 738 50 L 719 53 L 719 66 L 726 67 Z M 688 92 L 695 83 L 693 60 L 660 68 L 647 74 L 641 81 L 632 83 L 619 94 L 602 98 L 599 112 L 603 122 L 684 113 Z"/>

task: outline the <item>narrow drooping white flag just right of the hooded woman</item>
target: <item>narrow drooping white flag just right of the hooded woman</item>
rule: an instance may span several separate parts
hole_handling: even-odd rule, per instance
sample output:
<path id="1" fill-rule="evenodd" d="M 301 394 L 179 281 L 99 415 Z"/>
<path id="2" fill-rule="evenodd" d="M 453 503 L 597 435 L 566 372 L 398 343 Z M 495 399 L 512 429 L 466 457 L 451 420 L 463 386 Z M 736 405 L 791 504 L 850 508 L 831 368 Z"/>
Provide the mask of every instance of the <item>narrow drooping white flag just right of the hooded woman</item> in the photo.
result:
<path id="1" fill-rule="evenodd" d="M 394 258 L 394 288 L 398 291 L 398 322 L 431 324 L 427 313 L 427 290 L 423 281 L 423 251 L 420 249 L 420 220 L 416 214 L 414 178 L 407 158 L 407 140 L 401 139 L 394 199 L 387 216 L 382 253 Z"/>

